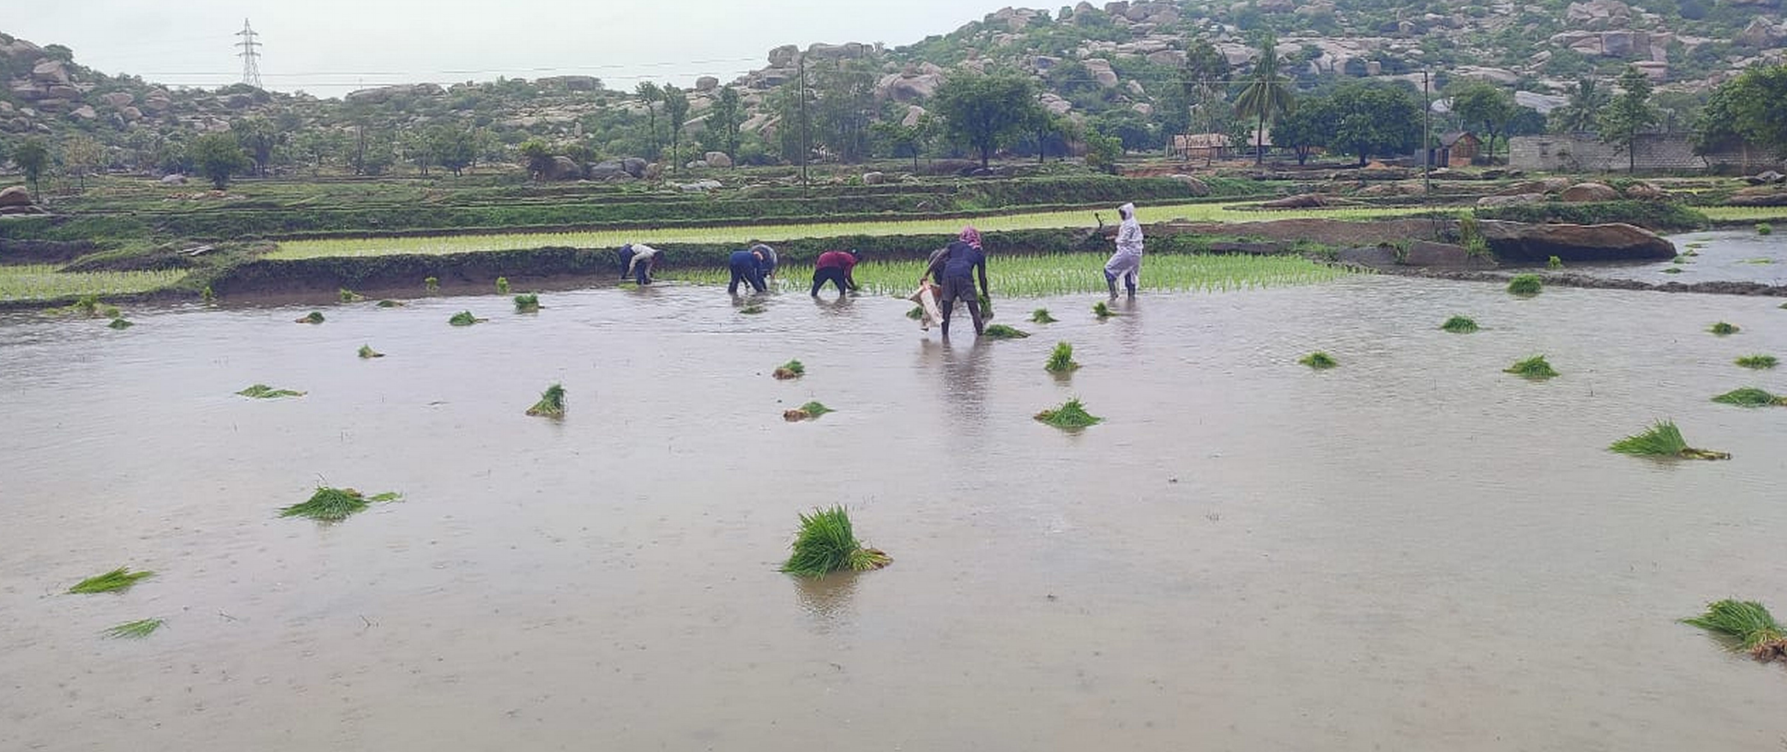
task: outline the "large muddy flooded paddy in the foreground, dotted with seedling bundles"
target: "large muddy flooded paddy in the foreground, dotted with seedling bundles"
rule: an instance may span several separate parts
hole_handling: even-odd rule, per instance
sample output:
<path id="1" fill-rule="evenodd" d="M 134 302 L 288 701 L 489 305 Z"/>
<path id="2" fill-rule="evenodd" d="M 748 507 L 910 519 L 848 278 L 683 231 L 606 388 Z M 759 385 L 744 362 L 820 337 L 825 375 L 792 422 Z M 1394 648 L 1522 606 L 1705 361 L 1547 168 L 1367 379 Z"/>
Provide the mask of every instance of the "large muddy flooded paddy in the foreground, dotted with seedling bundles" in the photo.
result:
<path id="1" fill-rule="evenodd" d="M 829 295 L 0 316 L 0 748 L 1787 738 L 1787 673 L 1676 623 L 1787 607 L 1787 409 L 1708 400 L 1787 391 L 1732 364 L 1787 354 L 1778 300 L 1347 277 L 999 300 L 1035 336 L 945 345 Z M 1535 354 L 1560 375 L 1501 372 Z M 566 418 L 525 416 L 552 382 Z M 1031 420 L 1069 397 L 1104 423 Z M 1733 459 L 1605 450 L 1655 418 Z M 404 500 L 277 518 L 316 484 Z M 892 566 L 776 572 L 831 504 Z"/>

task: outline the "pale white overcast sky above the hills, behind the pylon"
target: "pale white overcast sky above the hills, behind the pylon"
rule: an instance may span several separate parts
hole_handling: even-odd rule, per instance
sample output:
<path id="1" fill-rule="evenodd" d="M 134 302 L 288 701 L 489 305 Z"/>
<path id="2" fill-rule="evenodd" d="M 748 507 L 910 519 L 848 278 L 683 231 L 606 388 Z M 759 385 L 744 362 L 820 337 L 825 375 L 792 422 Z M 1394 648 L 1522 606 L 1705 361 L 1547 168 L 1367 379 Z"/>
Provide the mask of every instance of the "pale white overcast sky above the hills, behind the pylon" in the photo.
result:
<path id="1" fill-rule="evenodd" d="M 259 32 L 261 82 L 318 96 L 397 84 L 583 73 L 609 88 L 688 86 L 763 68 L 772 46 L 911 45 L 1010 0 L 64 0 L 30 2 L 0 30 L 68 45 L 75 61 L 170 86 L 241 79 L 232 43 Z M 1058 4 L 1056 4 L 1058 5 Z"/>

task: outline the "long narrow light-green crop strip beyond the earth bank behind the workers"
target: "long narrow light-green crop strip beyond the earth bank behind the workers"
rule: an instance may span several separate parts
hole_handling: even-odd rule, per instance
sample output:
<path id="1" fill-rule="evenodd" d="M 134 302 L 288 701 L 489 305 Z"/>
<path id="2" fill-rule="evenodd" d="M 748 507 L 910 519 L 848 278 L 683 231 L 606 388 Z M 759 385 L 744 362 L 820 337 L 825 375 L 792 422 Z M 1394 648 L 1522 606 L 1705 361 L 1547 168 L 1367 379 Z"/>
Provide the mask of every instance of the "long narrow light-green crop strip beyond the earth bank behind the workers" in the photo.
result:
<path id="1" fill-rule="evenodd" d="M 1144 223 L 1185 218 L 1192 221 L 1263 221 L 1328 218 L 1367 221 L 1387 216 L 1406 216 L 1421 207 L 1346 207 L 1346 209 L 1292 209 L 1258 211 L 1226 209 L 1221 204 L 1179 204 L 1142 207 L 1137 216 Z M 1108 216 L 1106 216 L 1108 218 Z M 1092 227 L 1092 213 L 1085 209 L 1045 211 L 1045 213 L 1010 213 L 1001 216 L 983 216 L 972 220 L 981 232 L 997 230 L 1040 230 L 1063 227 Z M 772 223 L 772 225 L 715 225 L 715 227 L 672 227 L 652 232 L 654 243 L 736 243 L 740 232 L 749 229 L 767 243 L 799 238 L 843 238 L 843 236 L 913 236 L 913 234 L 956 234 L 963 220 L 888 220 L 888 221 L 835 221 L 835 223 Z M 445 234 L 427 238 L 329 238 L 279 243 L 270 259 L 315 259 L 334 255 L 393 255 L 393 254 L 468 254 L 481 250 L 525 250 L 545 246 L 570 248 L 618 248 L 622 243 L 638 239 L 640 230 L 590 230 L 590 232 L 504 232 L 504 234 Z M 1103 259 L 1103 255 L 1101 255 Z M 1101 261 L 1103 263 L 1103 261 Z M 1154 275 L 1154 257 L 1149 257 L 1149 279 Z M 860 266 L 858 266 L 860 268 Z M 724 273 L 724 270 L 722 270 Z M 913 273 L 906 279 L 911 286 Z M 861 280 L 861 277 L 858 277 Z M 1103 284 L 1104 277 L 1097 275 Z M 1103 288 L 1099 288 L 1103 289 Z"/>

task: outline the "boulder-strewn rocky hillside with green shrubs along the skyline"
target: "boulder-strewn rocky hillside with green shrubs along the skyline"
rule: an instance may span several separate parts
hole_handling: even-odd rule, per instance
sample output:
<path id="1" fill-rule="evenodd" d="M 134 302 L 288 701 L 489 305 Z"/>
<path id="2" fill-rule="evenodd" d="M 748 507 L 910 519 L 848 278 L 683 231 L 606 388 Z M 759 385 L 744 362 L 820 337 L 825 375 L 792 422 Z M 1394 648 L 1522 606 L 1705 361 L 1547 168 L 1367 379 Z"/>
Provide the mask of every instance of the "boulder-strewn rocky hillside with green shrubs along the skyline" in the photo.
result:
<path id="1" fill-rule="evenodd" d="M 1610 80 L 1637 66 L 1658 82 L 1669 107 L 1692 109 L 1733 71 L 1787 61 L 1780 2 L 1181 0 L 1008 7 L 906 46 L 786 45 L 770 50 L 763 68 L 726 86 L 704 77 L 686 93 L 684 139 L 693 146 L 675 159 L 701 159 L 724 145 L 704 129 L 722 89 L 740 93 L 742 105 L 740 143 L 724 145 L 731 157 L 786 157 L 777 134 L 802 61 L 817 89 L 820 127 L 842 134 L 838 143 L 827 134 L 815 138 L 835 159 L 892 155 L 890 146 L 867 136 L 868 121 L 917 123 L 926 100 L 956 70 L 1024 71 L 1040 84 L 1051 111 L 1122 132 L 1131 148 L 1154 148 L 1188 127 L 1178 98 L 1187 50 L 1208 43 L 1242 71 L 1262 32 L 1276 34 L 1278 52 L 1290 63 L 1285 70 L 1303 88 L 1346 77 L 1421 84 L 1426 73 L 1439 91 L 1451 80 L 1483 79 L 1515 89 L 1521 104 L 1546 113 L 1564 102 L 1574 80 Z M 425 164 L 427 157 L 418 157 L 427 150 L 420 134 L 440 127 L 475 132 L 482 161 L 516 159 L 515 146 L 533 138 L 579 163 L 659 157 L 668 141 L 663 113 L 661 104 L 650 109 L 631 91 L 611 91 L 591 77 L 418 82 L 340 100 L 247 86 L 170 89 L 84 68 L 57 45 L 0 34 L 0 148 L 29 136 L 52 143 L 89 138 L 105 146 L 107 166 L 123 170 L 177 168 L 191 134 L 232 127 L 270 132 L 259 157 L 281 170 L 363 168 L 368 143 L 390 157 L 375 161 L 373 171 L 406 159 Z"/>

